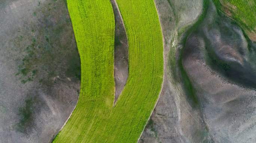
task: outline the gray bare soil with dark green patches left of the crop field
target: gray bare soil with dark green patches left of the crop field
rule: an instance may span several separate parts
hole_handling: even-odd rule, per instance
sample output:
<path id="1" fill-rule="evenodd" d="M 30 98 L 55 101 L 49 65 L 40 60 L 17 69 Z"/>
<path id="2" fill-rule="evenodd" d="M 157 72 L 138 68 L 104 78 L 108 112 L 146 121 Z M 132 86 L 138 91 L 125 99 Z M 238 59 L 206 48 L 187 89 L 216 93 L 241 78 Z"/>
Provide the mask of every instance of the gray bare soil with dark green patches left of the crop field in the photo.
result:
<path id="1" fill-rule="evenodd" d="M 0 143 L 49 143 L 80 88 L 65 0 L 1 0 L 0 19 Z"/>

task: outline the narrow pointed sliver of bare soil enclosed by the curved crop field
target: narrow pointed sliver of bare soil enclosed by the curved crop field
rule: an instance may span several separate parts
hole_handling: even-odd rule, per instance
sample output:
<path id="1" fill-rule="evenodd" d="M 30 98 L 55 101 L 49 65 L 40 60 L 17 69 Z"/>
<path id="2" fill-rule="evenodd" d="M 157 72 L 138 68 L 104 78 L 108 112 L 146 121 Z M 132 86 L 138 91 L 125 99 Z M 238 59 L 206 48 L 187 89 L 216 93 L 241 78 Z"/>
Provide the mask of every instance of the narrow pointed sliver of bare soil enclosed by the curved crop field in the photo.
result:
<path id="1" fill-rule="evenodd" d="M 115 101 L 121 94 L 128 78 L 128 42 L 124 23 L 115 0 L 110 0 L 115 14 Z"/>

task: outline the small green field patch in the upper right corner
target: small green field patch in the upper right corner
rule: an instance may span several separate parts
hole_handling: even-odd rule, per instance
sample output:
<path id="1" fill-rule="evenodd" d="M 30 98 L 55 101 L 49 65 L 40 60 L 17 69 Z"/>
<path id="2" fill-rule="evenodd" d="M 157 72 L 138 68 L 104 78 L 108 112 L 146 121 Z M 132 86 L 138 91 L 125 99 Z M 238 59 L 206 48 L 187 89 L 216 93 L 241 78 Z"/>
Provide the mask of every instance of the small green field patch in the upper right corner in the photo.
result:
<path id="1" fill-rule="evenodd" d="M 256 41 L 256 0 L 214 0 L 218 10 L 233 18 Z"/>

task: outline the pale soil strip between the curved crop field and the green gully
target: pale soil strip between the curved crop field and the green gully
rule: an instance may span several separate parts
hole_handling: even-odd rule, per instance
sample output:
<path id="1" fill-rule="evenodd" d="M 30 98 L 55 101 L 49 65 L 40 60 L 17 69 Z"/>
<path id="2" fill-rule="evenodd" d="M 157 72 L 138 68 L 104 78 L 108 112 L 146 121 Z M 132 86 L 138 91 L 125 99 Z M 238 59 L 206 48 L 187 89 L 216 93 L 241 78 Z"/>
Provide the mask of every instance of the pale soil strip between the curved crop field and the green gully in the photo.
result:
<path id="1" fill-rule="evenodd" d="M 149 123 L 138 143 L 200 143 L 207 140 L 199 109 L 186 100 L 182 82 L 176 77 L 176 49 L 180 29 L 192 25 L 202 11 L 202 0 L 155 0 L 165 53 L 165 79 Z"/>

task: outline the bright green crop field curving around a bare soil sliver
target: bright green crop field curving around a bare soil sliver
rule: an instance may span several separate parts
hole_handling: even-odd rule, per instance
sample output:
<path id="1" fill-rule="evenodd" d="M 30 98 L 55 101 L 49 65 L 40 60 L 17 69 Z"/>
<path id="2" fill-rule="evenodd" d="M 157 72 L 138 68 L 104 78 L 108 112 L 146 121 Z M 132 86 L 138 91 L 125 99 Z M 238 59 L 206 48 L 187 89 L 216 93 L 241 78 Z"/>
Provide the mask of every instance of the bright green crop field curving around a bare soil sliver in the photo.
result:
<path id="1" fill-rule="evenodd" d="M 81 57 L 81 91 L 54 143 L 136 143 L 158 99 L 163 41 L 154 0 L 117 0 L 129 42 L 129 77 L 113 107 L 115 21 L 109 0 L 68 0 Z"/>

